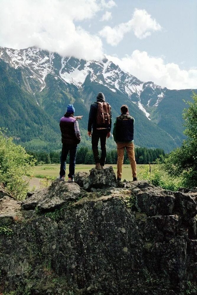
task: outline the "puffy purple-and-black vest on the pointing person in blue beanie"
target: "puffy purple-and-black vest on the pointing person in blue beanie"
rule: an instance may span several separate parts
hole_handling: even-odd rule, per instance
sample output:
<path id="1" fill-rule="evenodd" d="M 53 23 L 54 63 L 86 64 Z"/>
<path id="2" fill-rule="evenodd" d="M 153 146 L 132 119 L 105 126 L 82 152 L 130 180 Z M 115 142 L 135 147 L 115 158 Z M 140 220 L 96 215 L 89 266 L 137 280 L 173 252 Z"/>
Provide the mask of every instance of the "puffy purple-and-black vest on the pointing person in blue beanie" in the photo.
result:
<path id="1" fill-rule="evenodd" d="M 77 145 L 80 139 L 76 137 L 74 130 L 74 122 L 76 119 L 71 115 L 70 117 L 62 117 L 60 119 L 61 142 L 68 145 Z"/>

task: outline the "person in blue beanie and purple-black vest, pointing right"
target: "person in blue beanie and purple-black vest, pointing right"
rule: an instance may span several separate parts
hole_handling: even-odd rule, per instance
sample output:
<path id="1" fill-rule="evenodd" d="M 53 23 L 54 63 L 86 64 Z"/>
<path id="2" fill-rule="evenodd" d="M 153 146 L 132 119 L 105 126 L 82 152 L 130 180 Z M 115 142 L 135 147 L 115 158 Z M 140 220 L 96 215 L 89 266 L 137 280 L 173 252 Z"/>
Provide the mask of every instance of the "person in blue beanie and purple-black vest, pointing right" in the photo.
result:
<path id="1" fill-rule="evenodd" d="M 74 117 L 74 106 L 69 104 L 67 106 L 66 114 L 60 119 L 60 130 L 61 130 L 61 165 L 60 165 L 60 176 L 58 180 L 65 181 L 66 174 L 66 159 L 68 153 L 70 155 L 69 162 L 69 174 L 68 182 L 74 182 L 74 170 L 76 160 L 77 145 L 81 140 L 81 134 L 79 130 L 79 124 L 77 119 L 82 119 L 83 116 Z"/>

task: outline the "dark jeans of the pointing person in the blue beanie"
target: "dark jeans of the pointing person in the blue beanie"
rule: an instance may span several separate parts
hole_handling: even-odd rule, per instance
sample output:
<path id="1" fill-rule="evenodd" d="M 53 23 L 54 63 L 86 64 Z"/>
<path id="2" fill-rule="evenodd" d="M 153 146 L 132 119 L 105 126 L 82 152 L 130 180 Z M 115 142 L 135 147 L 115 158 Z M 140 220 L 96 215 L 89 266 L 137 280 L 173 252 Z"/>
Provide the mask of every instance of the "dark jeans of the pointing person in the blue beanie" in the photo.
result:
<path id="1" fill-rule="evenodd" d="M 76 160 L 76 150 L 77 145 L 62 145 L 61 150 L 61 165 L 60 165 L 60 176 L 65 176 L 66 174 L 66 159 L 68 153 L 70 155 L 70 163 L 69 163 L 69 178 L 74 178 L 74 169 L 75 169 L 75 160 Z"/>

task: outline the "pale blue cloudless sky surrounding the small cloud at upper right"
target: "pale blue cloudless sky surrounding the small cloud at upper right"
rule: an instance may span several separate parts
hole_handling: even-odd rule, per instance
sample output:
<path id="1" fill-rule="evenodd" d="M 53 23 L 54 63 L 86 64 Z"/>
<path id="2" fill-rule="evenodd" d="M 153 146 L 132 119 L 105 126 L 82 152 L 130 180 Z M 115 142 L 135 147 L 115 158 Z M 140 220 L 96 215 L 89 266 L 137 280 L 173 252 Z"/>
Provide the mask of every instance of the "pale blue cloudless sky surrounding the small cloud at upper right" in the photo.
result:
<path id="1" fill-rule="evenodd" d="M 162 26 L 162 30 L 141 40 L 129 32 L 117 47 L 103 41 L 104 51 L 108 55 L 117 54 L 122 58 L 138 49 L 145 50 L 152 56 L 165 56 L 167 63 L 177 63 L 184 69 L 197 67 L 196 0 L 117 0 L 115 3 L 117 6 L 111 9 L 112 19 L 108 22 L 110 26 L 127 22 L 137 8 L 145 9 Z M 91 20 L 91 32 L 102 27 L 98 19 L 99 17 L 95 21 Z"/>

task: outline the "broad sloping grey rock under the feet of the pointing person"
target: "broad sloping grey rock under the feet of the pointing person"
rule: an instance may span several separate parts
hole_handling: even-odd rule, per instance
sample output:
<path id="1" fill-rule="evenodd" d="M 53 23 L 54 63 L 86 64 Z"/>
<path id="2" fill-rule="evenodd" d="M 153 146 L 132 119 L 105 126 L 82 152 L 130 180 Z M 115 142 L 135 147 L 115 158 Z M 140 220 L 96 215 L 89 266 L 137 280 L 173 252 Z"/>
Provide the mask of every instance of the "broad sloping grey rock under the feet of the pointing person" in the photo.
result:
<path id="1" fill-rule="evenodd" d="M 82 191 L 78 184 L 55 180 L 51 185 L 26 199 L 22 208 L 24 210 L 35 209 L 49 211 L 60 207 L 68 201 L 79 198 Z"/>

